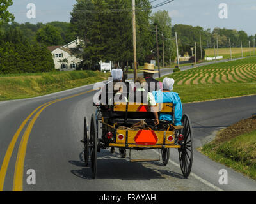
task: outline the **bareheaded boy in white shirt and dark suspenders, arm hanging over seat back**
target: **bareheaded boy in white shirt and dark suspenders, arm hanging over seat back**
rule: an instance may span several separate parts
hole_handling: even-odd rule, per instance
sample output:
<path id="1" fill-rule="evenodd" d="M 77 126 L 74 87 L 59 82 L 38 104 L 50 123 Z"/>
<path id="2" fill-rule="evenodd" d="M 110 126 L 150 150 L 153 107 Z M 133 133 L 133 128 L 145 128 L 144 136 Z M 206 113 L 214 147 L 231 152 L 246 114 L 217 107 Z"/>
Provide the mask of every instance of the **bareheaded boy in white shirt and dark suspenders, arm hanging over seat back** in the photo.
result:
<path id="1" fill-rule="evenodd" d="M 129 94 L 129 102 L 149 105 L 154 114 L 155 125 L 157 126 L 159 124 L 157 105 L 153 94 L 145 90 L 145 86 L 147 86 L 145 78 L 137 77 L 134 81 L 134 86 L 136 87 L 136 91 Z"/>

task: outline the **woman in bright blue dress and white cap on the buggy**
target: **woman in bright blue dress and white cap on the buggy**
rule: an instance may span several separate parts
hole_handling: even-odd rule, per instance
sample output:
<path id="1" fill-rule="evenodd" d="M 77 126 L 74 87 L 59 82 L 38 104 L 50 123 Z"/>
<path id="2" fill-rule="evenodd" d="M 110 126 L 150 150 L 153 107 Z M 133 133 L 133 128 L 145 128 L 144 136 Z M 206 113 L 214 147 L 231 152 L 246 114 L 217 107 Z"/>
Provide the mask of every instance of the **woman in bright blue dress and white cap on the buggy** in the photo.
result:
<path id="1" fill-rule="evenodd" d="M 174 106 L 174 124 L 175 126 L 182 126 L 182 103 L 179 94 L 173 92 L 173 78 L 164 78 L 163 80 L 163 90 L 154 91 L 153 96 L 156 103 L 173 103 Z M 166 113 L 160 114 L 160 120 L 172 121 L 173 116 Z"/>

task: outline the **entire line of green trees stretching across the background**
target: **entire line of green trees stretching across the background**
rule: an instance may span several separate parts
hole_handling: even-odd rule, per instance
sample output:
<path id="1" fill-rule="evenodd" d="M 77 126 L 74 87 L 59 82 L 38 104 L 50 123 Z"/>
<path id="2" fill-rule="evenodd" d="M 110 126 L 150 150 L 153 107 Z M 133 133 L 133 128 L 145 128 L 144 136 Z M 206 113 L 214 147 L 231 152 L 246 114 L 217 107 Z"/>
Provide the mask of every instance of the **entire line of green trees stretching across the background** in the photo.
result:
<path id="1" fill-rule="evenodd" d="M 70 22 L 49 22 L 47 24 L 18 24 L 7 11 L 11 0 L 6 0 L 0 12 L 0 73 L 22 73 L 54 70 L 51 52 L 47 46 L 65 45 L 77 37 L 84 45 L 73 51 L 83 59 L 80 68 L 94 69 L 100 60 L 127 63 L 132 66 L 132 5 L 131 0 L 77 0 L 70 13 Z M 2 5 L 2 4 L 1 4 Z M 190 48 L 197 43 L 196 55 L 200 56 L 200 34 L 203 57 L 205 48 L 218 46 L 248 47 L 255 36 L 235 29 L 172 25 L 168 11 L 152 13 L 148 0 L 136 1 L 137 61 L 139 64 L 156 59 L 156 30 L 158 33 L 159 55 L 164 64 L 177 57 L 175 32 L 177 32 L 179 53 L 191 55 Z M 10 24 L 12 22 L 12 24 Z M 164 52 L 163 52 L 164 51 Z M 163 57 L 164 53 L 164 57 Z M 18 63 L 15 63 L 18 62 Z"/>

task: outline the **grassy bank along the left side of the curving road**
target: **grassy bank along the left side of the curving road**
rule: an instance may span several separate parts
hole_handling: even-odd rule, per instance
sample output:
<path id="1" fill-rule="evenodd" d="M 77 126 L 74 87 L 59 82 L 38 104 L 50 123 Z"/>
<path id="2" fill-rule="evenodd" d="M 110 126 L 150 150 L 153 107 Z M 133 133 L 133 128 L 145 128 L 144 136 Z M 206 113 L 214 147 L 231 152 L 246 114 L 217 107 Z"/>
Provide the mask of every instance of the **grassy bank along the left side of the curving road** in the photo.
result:
<path id="1" fill-rule="evenodd" d="M 100 82 L 108 76 L 109 73 L 94 71 L 0 75 L 0 101 L 51 94 Z"/>

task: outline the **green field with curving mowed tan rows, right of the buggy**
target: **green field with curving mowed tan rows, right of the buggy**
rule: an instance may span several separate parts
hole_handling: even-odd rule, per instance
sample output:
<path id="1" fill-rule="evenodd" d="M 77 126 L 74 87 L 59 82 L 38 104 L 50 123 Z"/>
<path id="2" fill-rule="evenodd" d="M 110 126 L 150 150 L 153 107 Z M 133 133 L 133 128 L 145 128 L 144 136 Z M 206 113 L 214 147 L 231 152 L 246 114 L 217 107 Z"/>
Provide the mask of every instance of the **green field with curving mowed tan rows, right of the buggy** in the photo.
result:
<path id="1" fill-rule="evenodd" d="M 211 64 L 165 77 L 174 78 L 173 91 L 179 93 L 182 102 L 256 94 L 256 57 Z"/>

